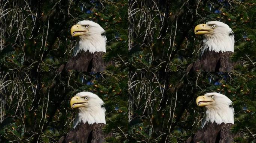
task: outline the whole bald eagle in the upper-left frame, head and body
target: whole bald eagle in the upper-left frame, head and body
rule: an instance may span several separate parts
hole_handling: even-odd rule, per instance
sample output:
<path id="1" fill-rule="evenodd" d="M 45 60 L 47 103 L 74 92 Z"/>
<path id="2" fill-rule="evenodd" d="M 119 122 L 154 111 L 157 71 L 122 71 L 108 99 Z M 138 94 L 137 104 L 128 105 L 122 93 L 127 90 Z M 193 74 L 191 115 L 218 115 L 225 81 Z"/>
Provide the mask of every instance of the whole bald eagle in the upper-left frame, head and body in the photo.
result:
<path id="1" fill-rule="evenodd" d="M 60 67 L 62 71 L 104 71 L 106 66 L 113 64 L 102 59 L 106 53 L 107 38 L 104 29 L 95 22 L 83 20 L 71 27 L 71 35 L 78 37 L 72 57 L 66 65 Z"/>

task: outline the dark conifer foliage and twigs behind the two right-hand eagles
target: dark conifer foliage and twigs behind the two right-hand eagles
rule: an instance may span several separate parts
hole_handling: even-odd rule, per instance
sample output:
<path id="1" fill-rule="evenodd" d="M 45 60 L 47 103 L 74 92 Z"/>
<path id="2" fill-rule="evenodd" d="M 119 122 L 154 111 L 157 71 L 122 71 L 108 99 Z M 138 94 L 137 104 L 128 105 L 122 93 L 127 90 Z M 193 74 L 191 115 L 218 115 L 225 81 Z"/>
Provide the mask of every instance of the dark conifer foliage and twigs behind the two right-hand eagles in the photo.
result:
<path id="1" fill-rule="evenodd" d="M 222 93 L 234 102 L 235 126 L 256 142 L 255 0 L 129 0 L 129 142 L 184 143 L 204 117 L 195 99 Z M 197 24 L 227 23 L 234 31 L 235 54 L 243 67 L 230 73 L 186 73 L 198 58 L 202 36 Z"/>

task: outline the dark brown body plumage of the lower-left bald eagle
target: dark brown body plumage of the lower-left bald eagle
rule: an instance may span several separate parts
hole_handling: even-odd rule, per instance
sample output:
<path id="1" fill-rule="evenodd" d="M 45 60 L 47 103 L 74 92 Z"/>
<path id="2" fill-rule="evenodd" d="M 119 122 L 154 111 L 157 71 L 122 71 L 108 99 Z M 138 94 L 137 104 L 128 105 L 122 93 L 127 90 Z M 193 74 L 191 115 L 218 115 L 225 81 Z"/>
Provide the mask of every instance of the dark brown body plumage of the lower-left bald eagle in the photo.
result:
<path id="1" fill-rule="evenodd" d="M 61 137 L 59 143 L 104 143 L 106 137 L 113 137 L 113 134 L 104 134 L 102 128 L 106 124 L 80 123 L 66 136 Z"/>

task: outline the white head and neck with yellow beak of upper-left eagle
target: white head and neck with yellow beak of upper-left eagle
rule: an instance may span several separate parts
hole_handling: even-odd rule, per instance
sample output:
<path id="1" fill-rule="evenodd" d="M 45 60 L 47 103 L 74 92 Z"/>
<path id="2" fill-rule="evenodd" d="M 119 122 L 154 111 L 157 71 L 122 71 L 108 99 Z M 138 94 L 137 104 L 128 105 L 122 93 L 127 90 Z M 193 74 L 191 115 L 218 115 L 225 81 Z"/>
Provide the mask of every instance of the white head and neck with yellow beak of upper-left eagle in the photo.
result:
<path id="1" fill-rule="evenodd" d="M 73 37 L 78 37 L 78 44 L 74 49 L 73 56 L 81 50 L 95 52 L 106 52 L 107 38 L 104 29 L 95 22 L 83 20 L 73 25 L 70 29 Z"/>

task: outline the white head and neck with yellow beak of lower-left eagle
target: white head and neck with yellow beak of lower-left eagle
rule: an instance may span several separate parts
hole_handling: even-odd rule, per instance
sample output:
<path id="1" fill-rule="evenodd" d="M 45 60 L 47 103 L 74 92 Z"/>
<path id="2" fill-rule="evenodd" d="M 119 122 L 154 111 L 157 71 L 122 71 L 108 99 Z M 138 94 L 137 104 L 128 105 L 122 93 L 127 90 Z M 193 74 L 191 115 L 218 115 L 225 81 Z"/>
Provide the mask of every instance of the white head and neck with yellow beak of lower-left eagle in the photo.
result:
<path id="1" fill-rule="evenodd" d="M 94 124 L 104 123 L 105 120 L 105 108 L 102 107 L 104 102 L 94 93 L 80 92 L 76 96 L 71 98 L 70 106 L 72 109 L 76 109 L 77 115 L 74 121 L 73 128 L 80 122 Z"/>

